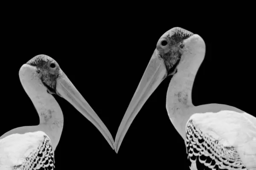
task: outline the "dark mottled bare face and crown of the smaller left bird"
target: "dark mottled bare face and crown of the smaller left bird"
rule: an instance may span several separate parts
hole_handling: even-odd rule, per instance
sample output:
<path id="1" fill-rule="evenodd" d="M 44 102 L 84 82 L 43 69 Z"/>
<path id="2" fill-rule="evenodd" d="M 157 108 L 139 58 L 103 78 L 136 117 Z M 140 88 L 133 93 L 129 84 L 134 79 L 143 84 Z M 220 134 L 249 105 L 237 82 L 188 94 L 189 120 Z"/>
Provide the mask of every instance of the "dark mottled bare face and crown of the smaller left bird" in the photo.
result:
<path id="1" fill-rule="evenodd" d="M 56 82 L 60 76 L 58 63 L 47 55 L 37 55 L 30 59 L 26 64 L 37 68 L 39 79 L 47 88 L 49 94 L 57 94 Z"/>

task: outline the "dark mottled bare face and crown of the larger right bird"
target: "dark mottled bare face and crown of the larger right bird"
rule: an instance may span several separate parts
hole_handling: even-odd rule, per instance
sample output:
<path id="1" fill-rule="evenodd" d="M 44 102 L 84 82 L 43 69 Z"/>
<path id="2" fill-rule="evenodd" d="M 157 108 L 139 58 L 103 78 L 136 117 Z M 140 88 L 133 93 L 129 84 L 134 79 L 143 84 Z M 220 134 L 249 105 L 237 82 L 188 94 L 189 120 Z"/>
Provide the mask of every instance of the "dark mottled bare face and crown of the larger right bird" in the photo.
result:
<path id="1" fill-rule="evenodd" d="M 186 50 L 183 41 L 193 35 L 192 32 L 183 28 L 175 27 L 163 34 L 157 42 L 159 57 L 163 59 L 166 66 L 167 76 L 177 72 L 183 52 Z"/>

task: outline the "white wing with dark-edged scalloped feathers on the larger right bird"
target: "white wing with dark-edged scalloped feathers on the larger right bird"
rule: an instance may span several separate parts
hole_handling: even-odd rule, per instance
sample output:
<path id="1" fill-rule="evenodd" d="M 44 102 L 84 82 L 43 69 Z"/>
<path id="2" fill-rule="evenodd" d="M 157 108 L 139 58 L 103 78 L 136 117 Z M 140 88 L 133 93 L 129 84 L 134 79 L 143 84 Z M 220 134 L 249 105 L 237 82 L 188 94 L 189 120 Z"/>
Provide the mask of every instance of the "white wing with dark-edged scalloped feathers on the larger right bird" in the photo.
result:
<path id="1" fill-rule="evenodd" d="M 255 167 L 256 126 L 250 118 L 235 111 L 193 114 L 186 125 L 191 170 L 199 162 L 212 170 Z"/>

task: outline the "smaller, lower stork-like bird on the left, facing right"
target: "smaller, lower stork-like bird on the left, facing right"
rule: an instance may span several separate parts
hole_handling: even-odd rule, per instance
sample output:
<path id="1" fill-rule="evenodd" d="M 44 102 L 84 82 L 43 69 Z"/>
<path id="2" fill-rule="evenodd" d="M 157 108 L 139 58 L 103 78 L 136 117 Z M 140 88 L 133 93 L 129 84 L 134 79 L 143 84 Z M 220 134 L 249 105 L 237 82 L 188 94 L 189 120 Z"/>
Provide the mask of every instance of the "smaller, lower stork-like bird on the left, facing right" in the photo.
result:
<path id="1" fill-rule="evenodd" d="M 0 170 L 53 170 L 54 151 L 64 116 L 53 94 L 72 104 L 102 133 L 113 149 L 113 137 L 102 120 L 67 78 L 58 63 L 41 54 L 23 64 L 20 82 L 39 115 L 36 126 L 12 129 L 0 137 Z"/>

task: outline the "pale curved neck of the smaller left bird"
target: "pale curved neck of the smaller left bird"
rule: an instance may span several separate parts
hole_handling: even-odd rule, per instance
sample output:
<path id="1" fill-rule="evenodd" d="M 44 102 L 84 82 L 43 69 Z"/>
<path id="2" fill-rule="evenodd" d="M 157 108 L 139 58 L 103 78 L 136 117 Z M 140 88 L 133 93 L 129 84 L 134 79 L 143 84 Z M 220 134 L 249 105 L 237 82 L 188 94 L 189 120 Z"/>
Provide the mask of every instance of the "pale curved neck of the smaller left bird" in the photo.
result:
<path id="1" fill-rule="evenodd" d="M 35 127 L 35 131 L 44 131 L 50 137 L 52 146 L 55 149 L 60 140 L 64 123 L 60 106 L 54 97 L 47 93 L 47 88 L 38 77 L 32 79 L 20 77 L 20 81 L 40 118 L 40 124 Z"/>

